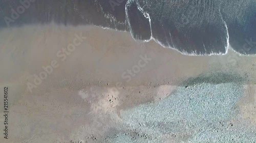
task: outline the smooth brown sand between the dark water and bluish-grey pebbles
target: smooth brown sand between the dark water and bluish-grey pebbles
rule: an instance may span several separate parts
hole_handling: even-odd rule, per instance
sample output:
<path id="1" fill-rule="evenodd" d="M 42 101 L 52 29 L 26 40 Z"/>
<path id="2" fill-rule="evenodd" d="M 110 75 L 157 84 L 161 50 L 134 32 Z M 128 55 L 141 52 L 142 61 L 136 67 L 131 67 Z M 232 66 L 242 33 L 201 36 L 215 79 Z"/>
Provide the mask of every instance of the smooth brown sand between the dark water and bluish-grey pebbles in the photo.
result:
<path id="1" fill-rule="evenodd" d="M 126 112 L 140 105 L 162 105 L 184 88 L 184 81 L 216 72 L 244 79 L 215 85 L 221 85 L 219 89 L 232 82 L 241 85 L 243 96 L 233 103 L 240 110 L 236 119 L 256 126 L 253 55 L 229 49 L 226 55 L 187 56 L 153 40 L 134 41 L 128 32 L 54 23 L 3 28 L 0 50 L 0 87 L 9 88 L 9 142 L 118 142 L 110 140 L 120 133 L 154 134 L 164 142 L 179 142 L 190 135 L 167 131 L 157 135 L 126 127 L 122 122 L 133 124 Z M 4 117 L 0 122 L 2 129 Z"/>

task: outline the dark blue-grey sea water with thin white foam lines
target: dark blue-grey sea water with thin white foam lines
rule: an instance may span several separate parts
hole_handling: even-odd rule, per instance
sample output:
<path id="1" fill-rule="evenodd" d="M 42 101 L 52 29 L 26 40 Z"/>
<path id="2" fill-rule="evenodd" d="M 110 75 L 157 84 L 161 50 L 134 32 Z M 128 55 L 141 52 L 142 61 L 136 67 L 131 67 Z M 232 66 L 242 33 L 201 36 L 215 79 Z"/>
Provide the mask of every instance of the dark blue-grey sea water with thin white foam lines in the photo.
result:
<path id="1" fill-rule="evenodd" d="M 25 2 L 22 0 L 22 2 Z M 256 53 L 254 0 L 28 0 L 0 2 L 0 27 L 93 24 L 188 55 Z M 24 10 L 21 7 L 24 7 Z M 15 12 L 13 12 L 15 11 Z M 17 16 L 18 15 L 18 16 Z M 7 18 L 10 18 L 7 20 Z"/>

